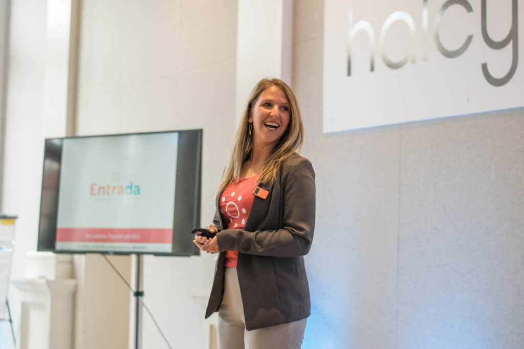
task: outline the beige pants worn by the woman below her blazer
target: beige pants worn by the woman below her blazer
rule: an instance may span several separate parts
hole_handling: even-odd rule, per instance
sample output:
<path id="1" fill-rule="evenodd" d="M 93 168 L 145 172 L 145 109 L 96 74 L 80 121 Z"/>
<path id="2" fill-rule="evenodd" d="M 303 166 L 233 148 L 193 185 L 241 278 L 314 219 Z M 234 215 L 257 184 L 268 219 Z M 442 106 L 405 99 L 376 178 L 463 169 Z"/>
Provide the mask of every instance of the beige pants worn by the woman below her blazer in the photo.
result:
<path id="1" fill-rule="evenodd" d="M 219 349 L 300 349 L 307 319 L 247 331 L 236 268 L 225 268 L 219 310 Z"/>

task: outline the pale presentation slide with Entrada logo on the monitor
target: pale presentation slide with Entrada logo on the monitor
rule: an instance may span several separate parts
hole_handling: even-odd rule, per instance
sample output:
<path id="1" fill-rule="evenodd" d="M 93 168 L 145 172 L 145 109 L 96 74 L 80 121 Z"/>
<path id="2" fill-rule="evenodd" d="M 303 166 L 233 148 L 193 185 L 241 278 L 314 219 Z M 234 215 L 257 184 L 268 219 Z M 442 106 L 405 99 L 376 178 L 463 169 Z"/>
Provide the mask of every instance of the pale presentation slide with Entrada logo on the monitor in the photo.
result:
<path id="1" fill-rule="evenodd" d="M 64 139 L 58 251 L 170 253 L 178 133 Z"/>

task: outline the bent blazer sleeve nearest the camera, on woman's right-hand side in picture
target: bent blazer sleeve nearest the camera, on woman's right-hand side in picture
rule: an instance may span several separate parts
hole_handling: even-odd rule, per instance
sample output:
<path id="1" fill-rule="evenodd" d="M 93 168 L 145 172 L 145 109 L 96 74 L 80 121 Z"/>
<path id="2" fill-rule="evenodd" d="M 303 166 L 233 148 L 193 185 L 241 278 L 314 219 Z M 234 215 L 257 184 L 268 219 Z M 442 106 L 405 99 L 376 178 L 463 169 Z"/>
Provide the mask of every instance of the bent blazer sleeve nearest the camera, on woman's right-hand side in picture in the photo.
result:
<path id="1" fill-rule="evenodd" d="M 219 250 L 246 254 L 296 257 L 309 252 L 315 225 L 315 173 L 307 159 L 293 165 L 281 187 L 282 228 L 245 231 L 226 229 L 217 233 Z"/>

